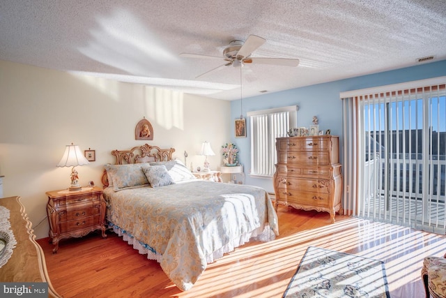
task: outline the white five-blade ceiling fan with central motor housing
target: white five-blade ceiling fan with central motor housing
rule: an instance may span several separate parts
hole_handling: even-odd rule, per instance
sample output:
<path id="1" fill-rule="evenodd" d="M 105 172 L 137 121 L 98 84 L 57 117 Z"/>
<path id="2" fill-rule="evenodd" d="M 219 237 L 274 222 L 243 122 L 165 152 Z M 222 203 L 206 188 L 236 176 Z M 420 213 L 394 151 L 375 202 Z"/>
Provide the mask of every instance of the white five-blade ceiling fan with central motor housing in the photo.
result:
<path id="1" fill-rule="evenodd" d="M 215 70 L 220 70 L 225 66 L 239 67 L 243 64 L 271 64 L 279 66 L 298 66 L 299 59 L 287 59 L 287 58 L 267 58 L 267 57 L 251 57 L 252 52 L 254 52 L 258 47 L 266 42 L 265 38 L 259 36 L 250 35 L 245 42 L 242 40 L 232 40 L 231 43 L 223 50 L 223 60 L 225 63 L 221 66 L 217 66 L 211 70 L 206 71 L 197 76 L 201 77 Z M 208 56 L 201 54 L 189 54 L 181 53 L 180 57 L 186 58 L 204 58 L 204 59 L 222 59 L 222 57 Z"/>

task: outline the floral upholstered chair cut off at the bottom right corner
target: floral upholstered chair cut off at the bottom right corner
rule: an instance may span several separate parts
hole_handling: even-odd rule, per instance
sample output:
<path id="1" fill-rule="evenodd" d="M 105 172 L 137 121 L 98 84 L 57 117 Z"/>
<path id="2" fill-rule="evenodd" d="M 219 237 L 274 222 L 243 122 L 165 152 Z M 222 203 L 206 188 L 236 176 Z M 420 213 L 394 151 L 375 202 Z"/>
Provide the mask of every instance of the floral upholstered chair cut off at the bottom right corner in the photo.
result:
<path id="1" fill-rule="evenodd" d="M 426 257 L 424 258 L 421 277 L 426 290 L 426 298 L 445 298 L 446 297 L 446 254 L 443 258 Z"/>

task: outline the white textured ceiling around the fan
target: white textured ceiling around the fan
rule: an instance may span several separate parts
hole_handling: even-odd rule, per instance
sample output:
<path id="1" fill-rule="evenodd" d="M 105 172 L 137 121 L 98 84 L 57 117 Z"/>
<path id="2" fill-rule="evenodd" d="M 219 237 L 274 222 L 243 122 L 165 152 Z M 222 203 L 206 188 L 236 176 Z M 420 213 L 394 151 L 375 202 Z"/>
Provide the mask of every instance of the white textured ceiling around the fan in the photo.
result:
<path id="1" fill-rule="evenodd" d="M 231 40 L 266 39 L 245 65 L 198 75 Z M 446 59 L 446 1 L 0 1 L 0 59 L 233 100 Z M 426 62 L 424 62 L 426 63 Z"/>

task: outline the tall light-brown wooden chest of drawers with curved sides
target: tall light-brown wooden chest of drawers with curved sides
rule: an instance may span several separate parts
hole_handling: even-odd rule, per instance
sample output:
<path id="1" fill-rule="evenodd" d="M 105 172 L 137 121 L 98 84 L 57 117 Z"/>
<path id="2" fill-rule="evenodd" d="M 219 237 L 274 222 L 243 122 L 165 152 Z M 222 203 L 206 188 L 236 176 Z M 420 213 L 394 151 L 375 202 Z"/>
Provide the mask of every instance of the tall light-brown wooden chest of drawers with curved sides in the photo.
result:
<path id="1" fill-rule="evenodd" d="M 334 223 L 334 214 L 342 209 L 339 137 L 277 137 L 276 150 L 276 210 L 278 204 L 284 204 L 295 209 L 327 211 Z"/>

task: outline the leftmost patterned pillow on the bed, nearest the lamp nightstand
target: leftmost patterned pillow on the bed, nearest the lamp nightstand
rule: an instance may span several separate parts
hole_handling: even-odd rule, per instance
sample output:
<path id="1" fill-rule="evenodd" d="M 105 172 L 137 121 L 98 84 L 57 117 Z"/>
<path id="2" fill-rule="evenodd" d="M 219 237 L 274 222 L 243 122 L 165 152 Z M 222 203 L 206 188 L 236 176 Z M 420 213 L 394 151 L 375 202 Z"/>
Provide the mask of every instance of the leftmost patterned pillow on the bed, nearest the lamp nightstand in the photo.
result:
<path id="1" fill-rule="evenodd" d="M 146 175 L 142 171 L 141 163 L 128 165 L 105 165 L 107 177 L 112 180 L 114 191 L 122 191 L 126 188 L 148 186 Z"/>

